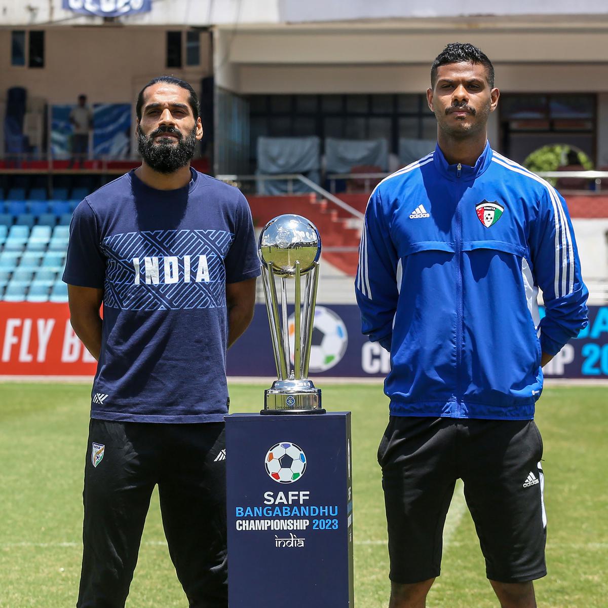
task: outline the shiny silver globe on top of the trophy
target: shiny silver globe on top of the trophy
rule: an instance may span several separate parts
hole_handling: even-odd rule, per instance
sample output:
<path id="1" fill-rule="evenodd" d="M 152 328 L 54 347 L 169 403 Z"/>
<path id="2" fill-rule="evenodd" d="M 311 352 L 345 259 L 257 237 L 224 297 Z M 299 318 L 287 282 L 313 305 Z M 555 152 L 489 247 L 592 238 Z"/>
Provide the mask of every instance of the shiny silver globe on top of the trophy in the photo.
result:
<path id="1" fill-rule="evenodd" d="M 319 230 L 301 215 L 279 215 L 261 231 L 258 255 L 280 277 L 294 277 L 296 261 L 300 262 L 300 274 L 306 274 L 321 255 Z"/>

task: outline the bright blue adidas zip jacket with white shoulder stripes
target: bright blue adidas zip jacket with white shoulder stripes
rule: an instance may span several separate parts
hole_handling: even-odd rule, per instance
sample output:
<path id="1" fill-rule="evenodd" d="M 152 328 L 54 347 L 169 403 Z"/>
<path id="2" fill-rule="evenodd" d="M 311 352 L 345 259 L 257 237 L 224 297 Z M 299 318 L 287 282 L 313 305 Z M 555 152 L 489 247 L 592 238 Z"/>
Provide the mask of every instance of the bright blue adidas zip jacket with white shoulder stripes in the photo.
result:
<path id="1" fill-rule="evenodd" d="M 564 199 L 487 143 L 475 167 L 437 147 L 376 187 L 355 291 L 363 333 L 391 354 L 392 415 L 531 420 L 541 351 L 587 324 Z"/>

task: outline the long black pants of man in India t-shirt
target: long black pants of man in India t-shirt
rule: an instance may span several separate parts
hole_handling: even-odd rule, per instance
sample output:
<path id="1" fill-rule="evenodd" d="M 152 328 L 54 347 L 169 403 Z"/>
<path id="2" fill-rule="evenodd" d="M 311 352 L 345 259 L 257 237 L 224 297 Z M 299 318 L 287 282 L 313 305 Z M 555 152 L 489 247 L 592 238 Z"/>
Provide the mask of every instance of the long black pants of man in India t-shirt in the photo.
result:
<path id="1" fill-rule="evenodd" d="M 77 608 L 123 608 L 154 486 L 190 608 L 227 608 L 224 423 L 92 419 Z"/>

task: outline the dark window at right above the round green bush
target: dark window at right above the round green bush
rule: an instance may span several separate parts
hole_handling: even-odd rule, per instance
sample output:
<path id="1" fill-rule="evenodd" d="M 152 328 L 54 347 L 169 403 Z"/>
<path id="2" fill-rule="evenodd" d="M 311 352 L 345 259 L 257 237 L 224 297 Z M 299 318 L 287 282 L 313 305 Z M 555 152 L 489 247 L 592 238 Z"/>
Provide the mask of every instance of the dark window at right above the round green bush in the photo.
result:
<path id="1" fill-rule="evenodd" d="M 499 102 L 501 151 L 523 162 L 544 145 L 567 143 L 595 162 L 595 94 L 503 93 Z"/>

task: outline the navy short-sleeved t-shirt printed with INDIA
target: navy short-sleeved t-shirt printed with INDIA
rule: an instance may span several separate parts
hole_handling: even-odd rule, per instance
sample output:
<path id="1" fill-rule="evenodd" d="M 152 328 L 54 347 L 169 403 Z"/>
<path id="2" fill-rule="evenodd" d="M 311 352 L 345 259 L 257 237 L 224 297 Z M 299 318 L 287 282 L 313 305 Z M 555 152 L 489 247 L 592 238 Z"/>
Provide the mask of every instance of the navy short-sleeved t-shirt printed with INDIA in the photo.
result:
<path id="1" fill-rule="evenodd" d="M 103 288 L 91 417 L 217 422 L 227 413 L 226 283 L 260 274 L 241 192 L 192 170 L 156 190 L 130 171 L 74 212 L 63 280 Z"/>

